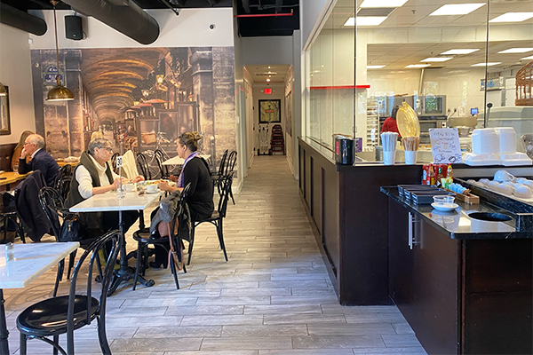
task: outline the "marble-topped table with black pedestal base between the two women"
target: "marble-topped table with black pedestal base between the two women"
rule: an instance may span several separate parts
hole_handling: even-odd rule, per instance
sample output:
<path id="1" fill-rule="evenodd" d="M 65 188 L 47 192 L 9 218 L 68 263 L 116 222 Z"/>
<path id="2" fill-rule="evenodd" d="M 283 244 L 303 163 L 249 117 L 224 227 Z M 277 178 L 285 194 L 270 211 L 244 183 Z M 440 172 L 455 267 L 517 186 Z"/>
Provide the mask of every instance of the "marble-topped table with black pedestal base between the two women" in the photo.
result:
<path id="1" fill-rule="evenodd" d="M 137 192 L 126 193 L 122 199 L 116 196 L 115 191 L 108 193 L 101 193 L 91 196 L 87 200 L 72 206 L 69 210 L 71 212 L 118 212 L 118 225 L 121 231 L 120 238 L 120 269 L 115 271 L 113 281 L 109 287 L 107 296 L 111 296 L 121 282 L 131 280 L 135 276 L 135 269 L 128 265 L 128 257 L 126 255 L 126 240 L 124 237 L 122 212 L 125 210 L 144 210 L 147 209 L 155 200 L 161 196 L 162 193 L 144 193 L 138 195 Z M 141 212 L 142 213 L 142 212 Z M 141 226 L 142 228 L 142 226 Z M 138 276 L 140 283 L 144 286 L 154 286 L 154 280 L 145 280 L 142 276 Z"/>

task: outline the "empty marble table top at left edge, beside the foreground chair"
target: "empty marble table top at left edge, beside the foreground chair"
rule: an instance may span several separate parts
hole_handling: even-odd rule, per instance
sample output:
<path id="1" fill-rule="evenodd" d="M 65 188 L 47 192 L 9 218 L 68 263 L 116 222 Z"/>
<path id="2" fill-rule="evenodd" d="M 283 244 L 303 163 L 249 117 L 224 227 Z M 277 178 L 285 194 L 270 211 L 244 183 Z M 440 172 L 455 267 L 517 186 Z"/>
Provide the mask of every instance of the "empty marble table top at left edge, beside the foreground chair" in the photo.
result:
<path id="1" fill-rule="evenodd" d="M 0 288 L 25 288 L 61 259 L 78 248 L 80 243 L 14 244 L 13 261 L 5 261 L 4 248 L 0 250 Z M 4 247 L 4 246 L 2 246 Z"/>

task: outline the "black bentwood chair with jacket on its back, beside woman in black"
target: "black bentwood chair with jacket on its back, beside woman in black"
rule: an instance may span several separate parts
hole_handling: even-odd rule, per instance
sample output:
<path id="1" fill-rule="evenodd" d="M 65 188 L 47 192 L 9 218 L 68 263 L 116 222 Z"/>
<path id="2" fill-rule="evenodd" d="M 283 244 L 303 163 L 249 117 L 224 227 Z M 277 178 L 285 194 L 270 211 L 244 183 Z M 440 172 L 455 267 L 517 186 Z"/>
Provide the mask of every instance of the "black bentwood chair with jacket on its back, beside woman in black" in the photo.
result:
<path id="1" fill-rule="evenodd" d="M 133 233 L 133 239 L 137 241 L 137 265 L 135 269 L 135 278 L 133 279 L 133 290 L 137 287 L 137 280 L 139 279 L 139 273 L 144 276 L 144 273 L 147 269 L 148 264 L 148 245 L 154 245 L 155 248 L 157 246 L 160 246 L 161 248 L 164 248 L 165 251 L 169 255 L 169 264 L 171 266 L 171 272 L 172 275 L 174 275 L 174 282 L 176 283 L 176 288 L 179 289 L 179 281 L 178 281 L 178 270 L 179 270 L 179 264 L 183 264 L 183 272 L 187 273 L 187 269 L 185 267 L 185 263 L 182 260 L 182 253 L 181 253 L 181 239 L 187 238 L 185 234 L 183 227 L 184 225 L 187 225 L 190 223 L 190 214 L 188 213 L 187 208 L 187 196 L 189 193 L 189 190 L 191 188 L 191 184 L 187 184 L 183 188 L 183 191 L 179 194 L 179 201 L 178 205 L 176 206 L 176 213 L 174 214 L 174 217 L 172 218 L 171 223 L 171 237 L 164 236 L 161 237 L 159 233 L 157 233 L 157 238 L 153 237 L 150 233 L 149 228 L 143 228 L 139 229 L 139 231 Z M 187 219 L 188 218 L 188 219 Z M 174 234 L 174 229 L 176 227 L 176 223 L 178 223 L 178 233 Z M 191 225 L 192 228 L 192 225 Z M 190 231 L 189 231 L 190 233 Z M 167 248 L 167 244 L 169 244 L 170 249 Z"/>

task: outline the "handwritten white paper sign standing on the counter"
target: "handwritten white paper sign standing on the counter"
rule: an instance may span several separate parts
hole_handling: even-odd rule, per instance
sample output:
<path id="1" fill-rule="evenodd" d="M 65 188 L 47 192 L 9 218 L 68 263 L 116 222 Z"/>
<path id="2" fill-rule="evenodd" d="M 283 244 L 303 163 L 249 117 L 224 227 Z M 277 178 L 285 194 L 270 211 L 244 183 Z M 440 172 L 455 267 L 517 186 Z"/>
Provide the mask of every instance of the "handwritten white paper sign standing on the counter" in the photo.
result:
<path id="1" fill-rule="evenodd" d="M 457 128 L 430 129 L 429 138 L 435 164 L 463 161 Z"/>

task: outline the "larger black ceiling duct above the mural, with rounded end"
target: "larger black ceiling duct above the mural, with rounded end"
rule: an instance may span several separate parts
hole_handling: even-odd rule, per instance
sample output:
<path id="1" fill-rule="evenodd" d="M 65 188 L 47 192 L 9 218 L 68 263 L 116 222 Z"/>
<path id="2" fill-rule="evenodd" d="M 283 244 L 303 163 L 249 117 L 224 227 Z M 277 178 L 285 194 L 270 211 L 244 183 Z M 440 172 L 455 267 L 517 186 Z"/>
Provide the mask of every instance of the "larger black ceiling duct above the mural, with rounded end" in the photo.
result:
<path id="1" fill-rule="evenodd" d="M 92 16 L 110 28 L 141 43 L 154 43 L 159 36 L 159 24 L 131 0 L 62 0 L 77 12 Z"/>

